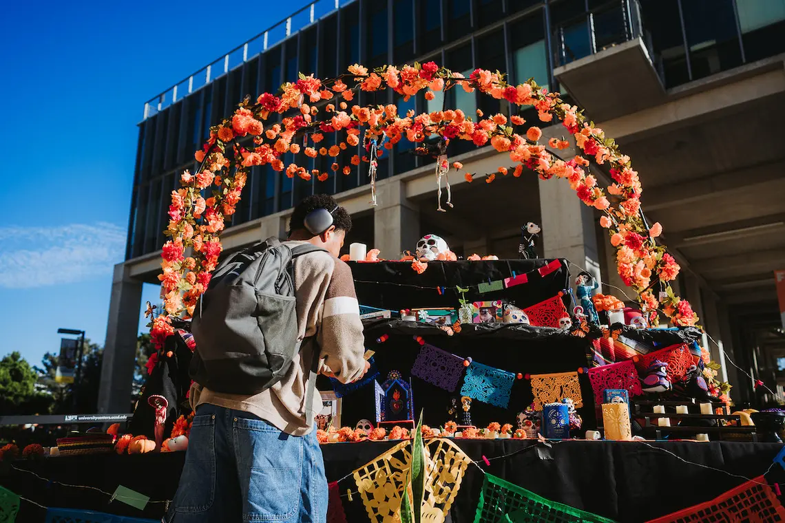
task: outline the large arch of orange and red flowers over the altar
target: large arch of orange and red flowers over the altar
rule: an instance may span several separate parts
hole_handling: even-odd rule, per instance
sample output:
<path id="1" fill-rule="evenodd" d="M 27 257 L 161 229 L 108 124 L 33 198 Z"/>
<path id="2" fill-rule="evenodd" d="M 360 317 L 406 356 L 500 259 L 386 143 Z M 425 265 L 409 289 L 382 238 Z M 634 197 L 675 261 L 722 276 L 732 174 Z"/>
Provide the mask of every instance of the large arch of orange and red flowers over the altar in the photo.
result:
<path id="1" fill-rule="evenodd" d="M 517 115 L 485 116 L 477 111 L 475 122 L 473 115 L 460 110 L 415 115 L 414 111 L 398 114 L 394 104 L 352 104 L 356 92 L 382 89 L 392 89 L 404 96 L 404 100 L 421 91 L 425 91 L 426 100 L 433 100 L 434 92 L 438 91 L 477 90 L 519 107 L 533 106 L 542 122 L 551 122 L 553 118 L 562 122 L 580 153 L 568 161 L 559 158 L 539 143 L 542 137 L 539 127 L 524 127 L 525 120 Z M 267 122 L 271 116 L 276 122 Z M 323 133 L 338 133 L 341 140 L 324 147 L 319 145 Z M 433 147 L 431 150 L 423 147 L 429 137 L 438 137 L 442 147 L 436 147 L 436 151 Z M 255 104 L 246 98 L 230 118 L 210 128 L 209 140 L 195 152 L 195 159 L 201 164 L 199 169 L 194 174 L 185 171 L 181 176 L 182 187 L 172 192 L 170 223 L 165 231 L 171 239 L 163 245 L 163 271 L 159 275 L 166 293 L 165 310 L 152 321 L 153 340 L 161 344 L 173 332 L 172 318 L 190 318 L 199 296 L 210 283 L 210 271 L 221 255 L 219 236 L 225 227 L 225 217 L 235 212 L 250 167 L 271 165 L 290 178 L 299 176 L 310 180 L 316 176 L 326 180 L 328 173 L 318 169 L 309 171 L 298 165 L 298 158 L 334 158 L 330 169 L 344 174 L 368 164 L 371 191 L 375 194 L 376 159 L 383 153 L 379 147 L 389 149 L 400 140 L 420 144 L 419 149 L 438 157 L 439 181 L 450 168 L 444 147 L 449 140 L 469 140 L 477 147 L 490 143 L 499 153 L 509 154 L 514 165 L 512 172 L 499 167 L 497 173 L 486 177 L 487 183 L 492 183 L 497 174 L 519 177 L 524 168 L 544 180 L 566 179 L 582 202 L 602 212 L 600 224 L 608 230 L 616 249 L 619 275 L 635 290 L 649 320 L 656 323 L 662 312 L 674 325 L 695 325 L 698 321 L 689 303 L 676 296 L 670 287 L 669 282 L 677 277 L 680 267 L 655 239 L 662 233 L 659 223 L 651 227 L 646 223 L 641 212 L 641 181 L 630 157 L 622 154 L 602 129 L 588 122 L 578 107 L 565 104 L 559 93 L 548 93 L 533 79 L 510 85 L 498 71 L 476 69 L 466 78 L 433 62 L 400 68 L 385 65 L 372 71 L 354 64 L 347 74 L 337 78 L 320 80 L 300 74 L 297 82 L 283 84 L 278 94 L 263 93 Z M 349 165 L 340 165 L 337 158 L 341 151 L 360 142 L 368 154 L 363 157 L 355 154 Z M 556 138 L 548 142 L 552 150 L 569 145 L 567 140 Z M 284 165 L 283 154 L 293 154 L 295 162 Z M 585 168 L 590 165 L 590 159 L 600 165 L 608 164 L 612 184 L 603 189 L 597 178 L 587 173 Z M 452 166 L 462 168 L 458 162 Z M 465 176 L 467 181 L 472 181 L 472 175 Z M 209 187 L 214 187 L 212 195 L 204 198 Z M 440 188 L 439 194 L 439 210 L 444 210 Z M 655 297 L 652 289 L 658 284 L 661 292 Z"/>

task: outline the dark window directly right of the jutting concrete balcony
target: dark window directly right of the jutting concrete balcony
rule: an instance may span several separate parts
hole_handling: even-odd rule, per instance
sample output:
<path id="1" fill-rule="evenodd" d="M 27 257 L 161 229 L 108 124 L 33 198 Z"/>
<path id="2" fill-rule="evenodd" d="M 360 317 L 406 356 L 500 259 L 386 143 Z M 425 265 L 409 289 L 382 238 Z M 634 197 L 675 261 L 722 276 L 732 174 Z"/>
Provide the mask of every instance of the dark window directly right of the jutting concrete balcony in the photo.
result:
<path id="1" fill-rule="evenodd" d="M 692 79 L 741 65 L 733 0 L 681 2 Z"/>

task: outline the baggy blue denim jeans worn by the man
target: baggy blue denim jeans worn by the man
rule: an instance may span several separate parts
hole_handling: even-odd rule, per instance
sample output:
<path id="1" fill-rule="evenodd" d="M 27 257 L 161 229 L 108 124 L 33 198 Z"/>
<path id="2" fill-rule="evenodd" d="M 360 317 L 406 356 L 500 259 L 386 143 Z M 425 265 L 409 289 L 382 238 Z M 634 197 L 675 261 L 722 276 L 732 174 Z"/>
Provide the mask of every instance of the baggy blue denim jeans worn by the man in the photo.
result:
<path id="1" fill-rule="evenodd" d="M 196 409 L 180 486 L 164 523 L 325 523 L 316 431 L 290 436 L 250 412 Z"/>

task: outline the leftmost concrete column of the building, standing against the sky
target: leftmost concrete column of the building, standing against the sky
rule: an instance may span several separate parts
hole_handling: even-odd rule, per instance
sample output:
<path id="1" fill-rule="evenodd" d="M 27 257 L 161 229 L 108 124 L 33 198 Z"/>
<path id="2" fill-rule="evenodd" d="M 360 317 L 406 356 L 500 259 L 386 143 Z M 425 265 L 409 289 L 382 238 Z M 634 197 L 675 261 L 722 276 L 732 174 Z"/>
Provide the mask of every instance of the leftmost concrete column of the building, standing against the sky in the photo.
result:
<path id="1" fill-rule="evenodd" d="M 125 263 L 115 265 L 98 391 L 98 412 L 130 412 L 141 299 L 142 282 L 130 278 Z"/>

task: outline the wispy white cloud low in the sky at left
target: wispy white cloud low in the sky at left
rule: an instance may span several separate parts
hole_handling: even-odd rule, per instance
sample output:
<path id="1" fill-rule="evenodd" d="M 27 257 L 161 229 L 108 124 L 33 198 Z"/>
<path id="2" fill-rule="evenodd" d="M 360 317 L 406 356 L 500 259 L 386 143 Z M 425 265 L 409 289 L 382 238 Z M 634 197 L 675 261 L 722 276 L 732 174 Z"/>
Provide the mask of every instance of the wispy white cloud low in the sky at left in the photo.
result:
<path id="1" fill-rule="evenodd" d="M 111 274 L 126 230 L 113 223 L 0 227 L 0 287 L 26 289 Z"/>

